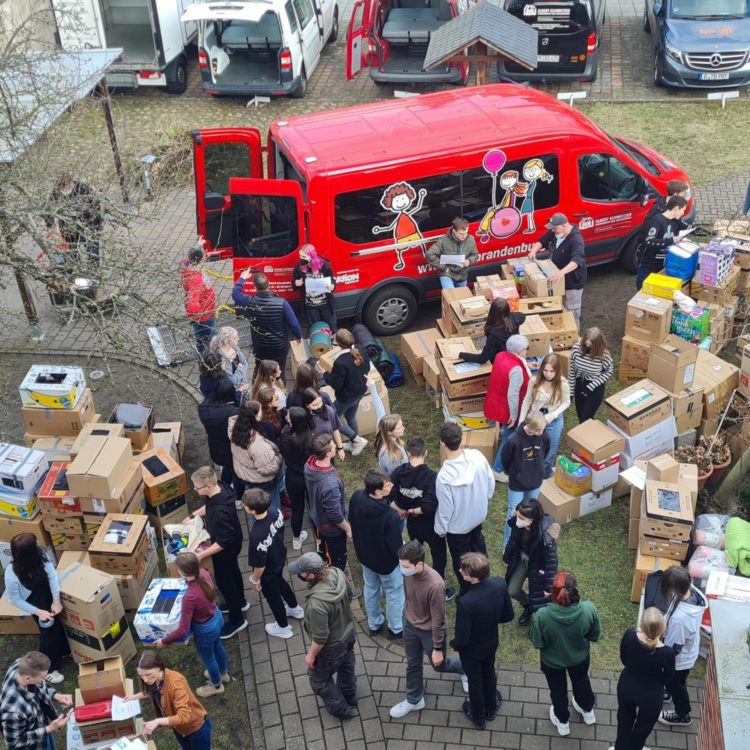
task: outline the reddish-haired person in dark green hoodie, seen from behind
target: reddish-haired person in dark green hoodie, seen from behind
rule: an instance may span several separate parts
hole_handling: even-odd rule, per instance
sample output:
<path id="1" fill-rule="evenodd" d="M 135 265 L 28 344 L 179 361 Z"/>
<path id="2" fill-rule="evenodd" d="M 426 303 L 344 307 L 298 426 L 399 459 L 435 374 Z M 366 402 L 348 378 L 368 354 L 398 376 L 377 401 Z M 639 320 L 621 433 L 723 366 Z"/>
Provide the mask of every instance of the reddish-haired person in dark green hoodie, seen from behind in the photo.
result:
<path id="1" fill-rule="evenodd" d="M 534 616 L 529 637 L 539 649 L 541 669 L 547 678 L 552 700 L 550 721 L 565 737 L 570 734 L 566 673 L 573 687 L 573 708 L 584 723 L 596 723 L 589 663 L 591 644 L 599 640 L 601 623 L 593 603 L 581 601 L 575 576 L 569 570 L 558 571 L 549 601 Z"/>

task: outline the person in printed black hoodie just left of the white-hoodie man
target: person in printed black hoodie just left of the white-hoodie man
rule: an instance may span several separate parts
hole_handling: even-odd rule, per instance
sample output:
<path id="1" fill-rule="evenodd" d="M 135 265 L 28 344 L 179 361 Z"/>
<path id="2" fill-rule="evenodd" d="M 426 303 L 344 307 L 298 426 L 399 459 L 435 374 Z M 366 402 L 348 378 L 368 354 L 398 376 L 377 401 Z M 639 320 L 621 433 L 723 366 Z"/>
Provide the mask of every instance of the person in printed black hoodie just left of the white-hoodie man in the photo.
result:
<path id="1" fill-rule="evenodd" d="M 430 545 L 432 568 L 445 580 L 448 548 L 445 537 L 435 533 L 437 472 L 425 463 L 427 444 L 424 438 L 410 438 L 406 443 L 406 455 L 409 462 L 401 464 L 391 473 L 391 505 L 401 518 L 406 518 L 409 539 Z M 456 589 L 446 586 L 445 601 L 449 602 L 455 596 Z"/>

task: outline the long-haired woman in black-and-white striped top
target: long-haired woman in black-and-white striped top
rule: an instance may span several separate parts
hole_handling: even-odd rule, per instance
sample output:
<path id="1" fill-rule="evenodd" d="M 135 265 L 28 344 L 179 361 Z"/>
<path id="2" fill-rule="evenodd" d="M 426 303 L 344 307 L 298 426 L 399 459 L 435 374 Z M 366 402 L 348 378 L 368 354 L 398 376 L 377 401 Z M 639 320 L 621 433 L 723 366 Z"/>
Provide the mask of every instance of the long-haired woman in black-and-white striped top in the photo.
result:
<path id="1" fill-rule="evenodd" d="M 575 395 L 579 423 L 594 418 L 614 371 L 604 334 L 596 327 L 587 328 L 570 350 L 568 369 L 568 386 Z"/>

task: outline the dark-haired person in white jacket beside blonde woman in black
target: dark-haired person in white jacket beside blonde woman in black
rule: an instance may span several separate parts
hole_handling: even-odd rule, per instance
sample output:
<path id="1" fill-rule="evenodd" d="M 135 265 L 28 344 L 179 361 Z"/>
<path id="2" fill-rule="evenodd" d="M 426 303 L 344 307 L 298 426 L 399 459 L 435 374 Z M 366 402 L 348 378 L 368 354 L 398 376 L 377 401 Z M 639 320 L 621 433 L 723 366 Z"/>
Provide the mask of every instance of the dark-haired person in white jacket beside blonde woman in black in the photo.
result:
<path id="1" fill-rule="evenodd" d="M 687 568 L 681 565 L 673 565 L 664 571 L 661 593 L 667 603 L 664 645 L 671 646 L 674 650 L 675 665 L 674 677 L 665 686 L 674 702 L 674 711 L 662 711 L 659 723 L 686 727 L 693 720 L 690 717 L 690 697 L 685 683 L 688 673 L 698 660 L 701 620 L 708 602 L 700 589 L 692 585 Z"/>

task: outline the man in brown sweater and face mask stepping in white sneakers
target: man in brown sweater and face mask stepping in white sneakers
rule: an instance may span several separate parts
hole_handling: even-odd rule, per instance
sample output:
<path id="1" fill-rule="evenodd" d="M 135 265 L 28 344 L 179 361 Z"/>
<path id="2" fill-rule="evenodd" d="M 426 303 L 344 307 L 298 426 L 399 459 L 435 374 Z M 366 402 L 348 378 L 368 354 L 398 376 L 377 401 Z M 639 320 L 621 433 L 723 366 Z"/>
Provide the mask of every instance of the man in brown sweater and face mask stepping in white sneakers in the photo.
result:
<path id="1" fill-rule="evenodd" d="M 464 692 L 469 682 L 461 659 L 446 654 L 448 636 L 445 622 L 445 582 L 424 561 L 424 547 L 416 539 L 398 551 L 398 564 L 404 575 L 404 651 L 406 652 L 406 699 L 390 710 L 394 719 L 425 707 L 424 656 L 436 672 L 461 675 Z"/>

